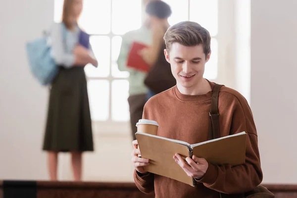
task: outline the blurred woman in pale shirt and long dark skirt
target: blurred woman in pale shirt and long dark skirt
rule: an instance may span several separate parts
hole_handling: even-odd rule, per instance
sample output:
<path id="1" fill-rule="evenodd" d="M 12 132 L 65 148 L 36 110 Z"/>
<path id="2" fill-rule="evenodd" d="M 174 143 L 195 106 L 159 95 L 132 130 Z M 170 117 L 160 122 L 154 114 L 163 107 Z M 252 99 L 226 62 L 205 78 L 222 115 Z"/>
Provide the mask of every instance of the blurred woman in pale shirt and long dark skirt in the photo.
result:
<path id="1" fill-rule="evenodd" d="M 51 30 L 52 56 L 59 72 L 51 84 L 43 147 L 48 151 L 50 180 L 57 180 L 58 152 L 71 152 L 74 180 L 80 181 L 82 152 L 94 150 L 84 66 L 98 62 L 90 55 L 91 45 L 88 49 L 79 44 L 82 9 L 83 0 L 64 0 L 62 22 Z"/>

